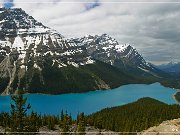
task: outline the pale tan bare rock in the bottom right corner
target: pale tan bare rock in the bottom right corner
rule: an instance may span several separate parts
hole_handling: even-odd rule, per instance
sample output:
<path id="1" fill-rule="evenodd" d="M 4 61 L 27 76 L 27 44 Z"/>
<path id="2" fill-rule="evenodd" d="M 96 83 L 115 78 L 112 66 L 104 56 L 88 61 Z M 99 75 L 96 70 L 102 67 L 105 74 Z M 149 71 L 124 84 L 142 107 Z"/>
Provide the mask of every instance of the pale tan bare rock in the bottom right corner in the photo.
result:
<path id="1" fill-rule="evenodd" d="M 180 134 L 180 118 L 168 120 L 159 126 L 154 126 L 138 135 L 179 135 Z"/>

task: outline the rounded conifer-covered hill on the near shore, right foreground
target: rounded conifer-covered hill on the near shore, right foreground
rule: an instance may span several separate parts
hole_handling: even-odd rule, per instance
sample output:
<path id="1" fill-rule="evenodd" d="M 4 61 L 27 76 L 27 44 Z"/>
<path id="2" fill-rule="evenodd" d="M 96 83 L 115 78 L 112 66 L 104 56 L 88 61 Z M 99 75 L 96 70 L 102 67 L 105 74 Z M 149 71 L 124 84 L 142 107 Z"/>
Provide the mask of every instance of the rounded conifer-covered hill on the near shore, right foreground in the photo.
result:
<path id="1" fill-rule="evenodd" d="M 142 98 L 127 105 L 103 109 L 87 117 L 90 125 L 119 132 L 142 131 L 180 117 L 179 105 Z"/>

